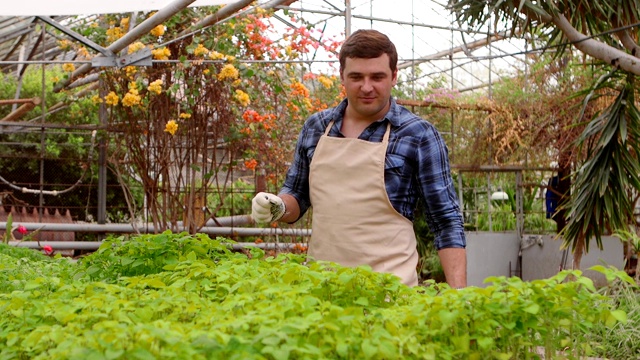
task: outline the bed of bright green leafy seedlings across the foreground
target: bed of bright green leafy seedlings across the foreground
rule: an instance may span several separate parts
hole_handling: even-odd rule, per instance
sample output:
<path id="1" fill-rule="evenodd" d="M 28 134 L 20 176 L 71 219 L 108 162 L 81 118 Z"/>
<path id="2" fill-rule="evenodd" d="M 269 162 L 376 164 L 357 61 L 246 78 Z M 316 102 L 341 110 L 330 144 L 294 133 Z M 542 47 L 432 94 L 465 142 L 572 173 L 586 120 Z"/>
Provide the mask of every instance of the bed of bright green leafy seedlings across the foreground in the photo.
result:
<path id="1" fill-rule="evenodd" d="M 596 350 L 591 329 L 626 320 L 579 271 L 410 288 L 366 267 L 228 244 L 112 237 L 75 263 L 2 245 L 0 358 L 578 359 Z"/>

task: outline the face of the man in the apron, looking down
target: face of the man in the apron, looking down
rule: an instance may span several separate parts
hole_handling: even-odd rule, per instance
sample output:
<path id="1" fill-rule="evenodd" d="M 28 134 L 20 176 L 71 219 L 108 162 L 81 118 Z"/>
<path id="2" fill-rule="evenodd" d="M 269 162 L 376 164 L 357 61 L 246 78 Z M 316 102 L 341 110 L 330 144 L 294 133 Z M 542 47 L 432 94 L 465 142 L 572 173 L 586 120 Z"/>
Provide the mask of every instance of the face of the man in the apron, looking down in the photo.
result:
<path id="1" fill-rule="evenodd" d="M 381 119 L 388 111 L 397 75 L 397 71 L 391 72 L 387 54 L 373 59 L 347 58 L 340 73 L 349 100 L 347 111 L 360 120 Z"/>

